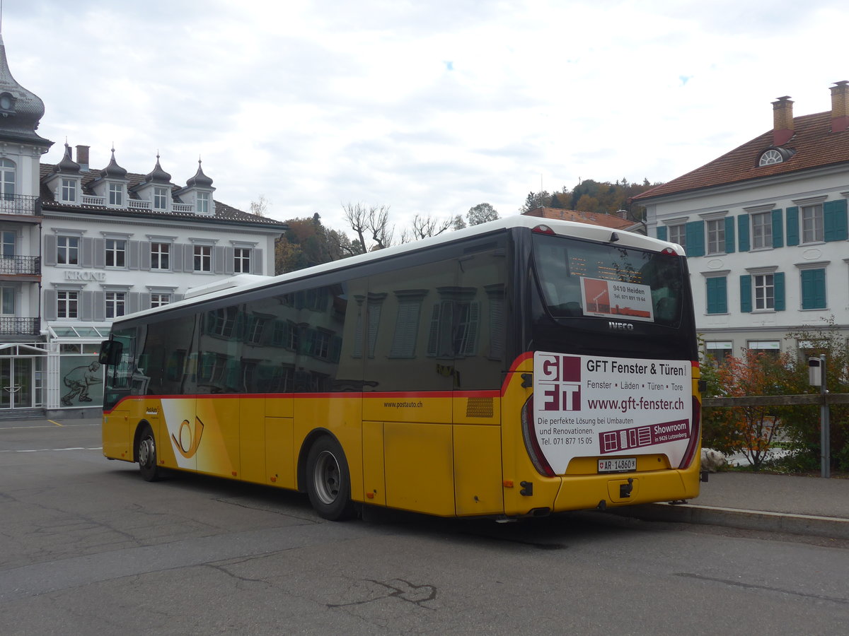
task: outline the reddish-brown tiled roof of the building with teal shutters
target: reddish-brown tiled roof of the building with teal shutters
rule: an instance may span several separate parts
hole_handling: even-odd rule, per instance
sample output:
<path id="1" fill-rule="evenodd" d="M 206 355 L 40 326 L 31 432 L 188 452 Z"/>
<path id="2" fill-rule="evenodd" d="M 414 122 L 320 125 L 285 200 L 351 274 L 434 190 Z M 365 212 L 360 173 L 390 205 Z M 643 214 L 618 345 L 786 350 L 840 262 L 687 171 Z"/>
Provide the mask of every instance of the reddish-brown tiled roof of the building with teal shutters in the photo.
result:
<path id="1" fill-rule="evenodd" d="M 849 163 L 849 130 L 831 131 L 831 111 L 795 117 L 793 129 L 793 137 L 781 148 L 788 148 L 795 154 L 780 164 L 757 165 L 761 153 L 774 148 L 773 131 L 770 130 L 709 164 L 638 194 L 633 200 Z"/>

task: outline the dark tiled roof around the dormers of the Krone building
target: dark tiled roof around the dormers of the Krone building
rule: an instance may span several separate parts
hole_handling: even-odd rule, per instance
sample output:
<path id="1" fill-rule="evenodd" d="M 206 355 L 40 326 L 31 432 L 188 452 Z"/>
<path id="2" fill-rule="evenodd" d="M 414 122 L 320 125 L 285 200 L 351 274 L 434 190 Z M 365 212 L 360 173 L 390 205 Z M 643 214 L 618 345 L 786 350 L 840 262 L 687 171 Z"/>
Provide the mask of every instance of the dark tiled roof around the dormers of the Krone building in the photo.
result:
<path id="1" fill-rule="evenodd" d="M 59 203 L 53 197 L 53 192 L 50 192 L 50 188 L 44 185 L 44 178 L 52 175 L 55 166 L 53 164 L 41 164 L 40 172 L 41 172 L 41 198 L 42 198 L 42 206 L 47 207 L 48 209 L 65 209 L 69 207 L 73 207 L 73 209 L 90 209 L 90 210 L 108 210 L 110 213 L 121 213 L 126 212 L 135 216 L 148 216 L 148 217 L 167 217 L 169 219 L 173 219 L 175 217 L 192 219 L 192 220 L 234 220 L 242 223 L 256 223 L 257 225 L 264 226 L 280 226 L 281 231 L 285 229 L 286 224 L 283 221 L 269 219 L 264 216 L 252 215 L 249 212 L 243 212 L 240 209 L 233 208 L 232 205 L 222 204 L 220 201 L 216 200 L 215 202 L 215 215 L 214 216 L 205 216 L 205 215 L 195 215 L 192 212 L 163 212 L 155 209 L 114 209 L 107 208 L 104 205 L 74 205 L 68 206 L 66 204 Z M 92 181 L 99 179 L 102 176 L 104 170 L 88 170 L 87 172 L 81 172 L 82 175 L 82 191 L 86 194 L 92 194 L 91 192 L 91 184 Z M 127 179 L 129 183 L 127 183 L 127 196 L 131 199 L 138 200 L 138 194 L 132 192 L 132 187 L 138 186 L 139 183 L 144 181 L 144 175 L 139 175 L 133 172 L 127 173 Z M 182 189 L 179 186 L 171 185 L 171 192 Z"/>

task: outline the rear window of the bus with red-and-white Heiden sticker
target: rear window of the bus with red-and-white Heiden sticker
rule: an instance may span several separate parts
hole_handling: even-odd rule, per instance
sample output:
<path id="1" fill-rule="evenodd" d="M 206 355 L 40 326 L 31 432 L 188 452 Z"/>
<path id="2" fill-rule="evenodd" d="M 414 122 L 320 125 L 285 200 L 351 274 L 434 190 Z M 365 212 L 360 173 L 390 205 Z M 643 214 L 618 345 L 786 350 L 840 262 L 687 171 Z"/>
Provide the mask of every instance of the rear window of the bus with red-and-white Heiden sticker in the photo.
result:
<path id="1" fill-rule="evenodd" d="M 534 234 L 540 292 L 554 317 L 597 316 L 678 326 L 681 257 Z"/>

